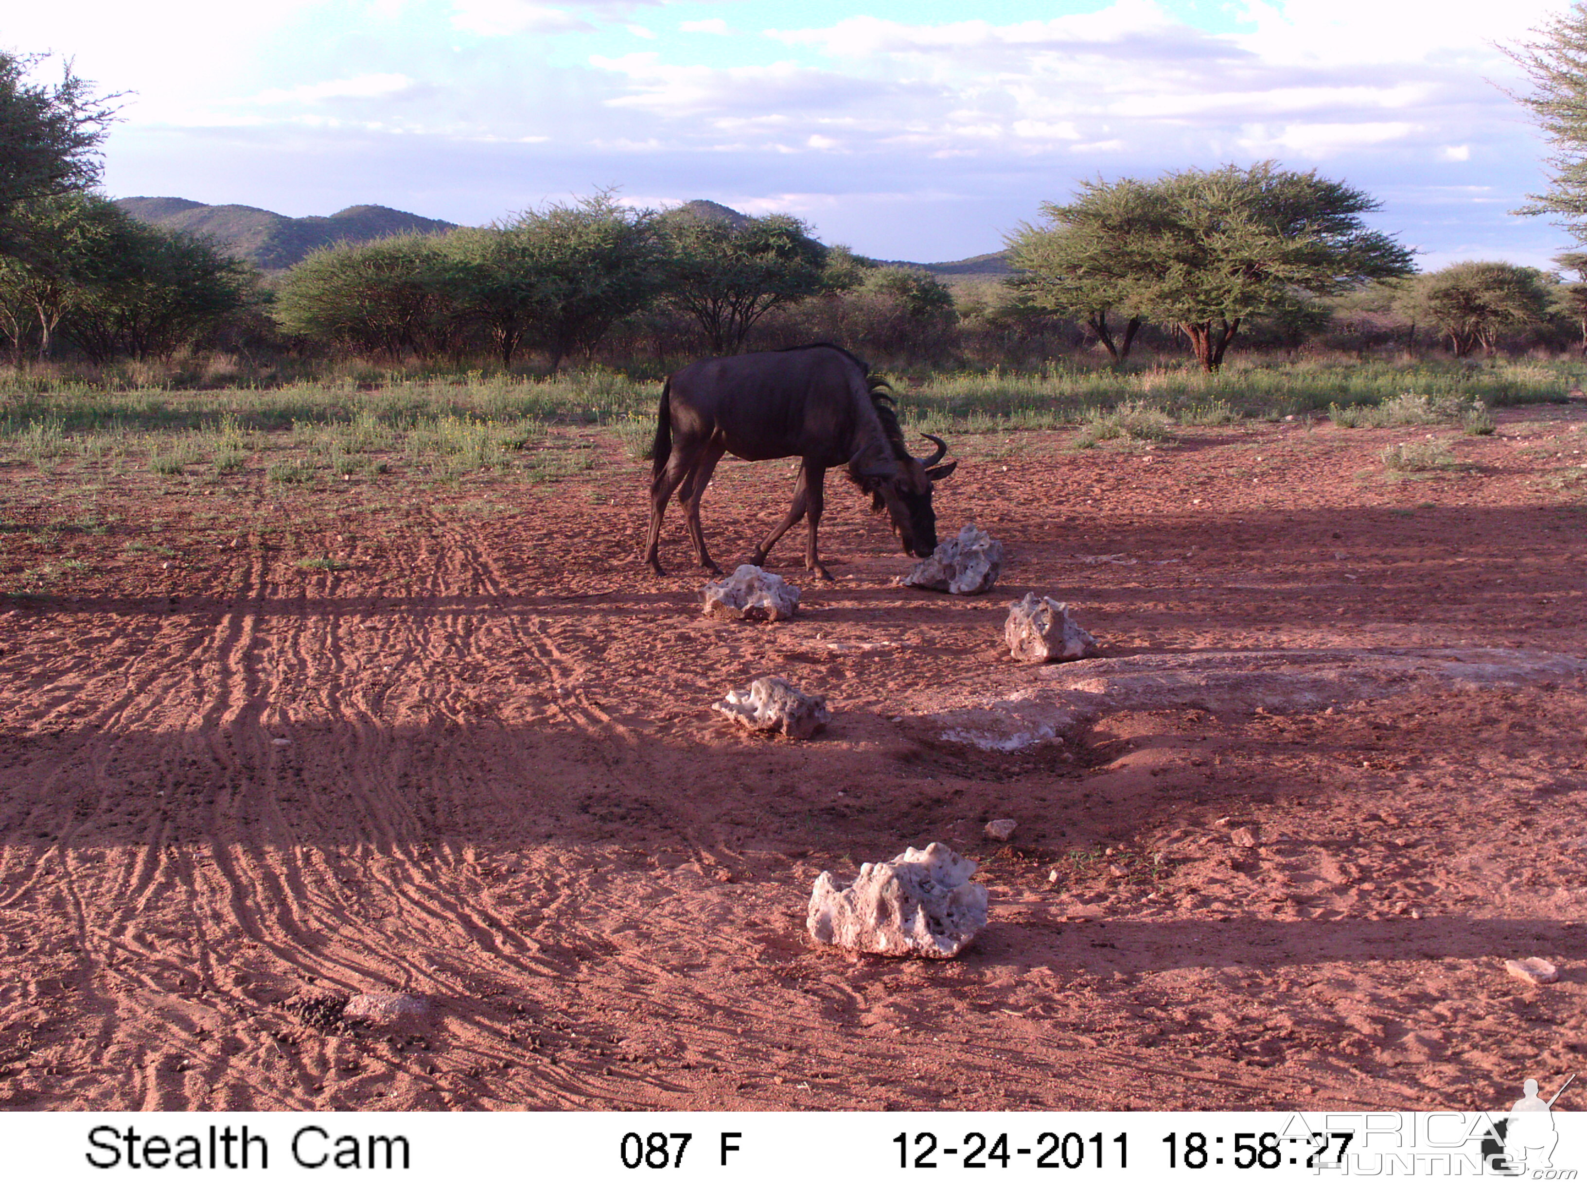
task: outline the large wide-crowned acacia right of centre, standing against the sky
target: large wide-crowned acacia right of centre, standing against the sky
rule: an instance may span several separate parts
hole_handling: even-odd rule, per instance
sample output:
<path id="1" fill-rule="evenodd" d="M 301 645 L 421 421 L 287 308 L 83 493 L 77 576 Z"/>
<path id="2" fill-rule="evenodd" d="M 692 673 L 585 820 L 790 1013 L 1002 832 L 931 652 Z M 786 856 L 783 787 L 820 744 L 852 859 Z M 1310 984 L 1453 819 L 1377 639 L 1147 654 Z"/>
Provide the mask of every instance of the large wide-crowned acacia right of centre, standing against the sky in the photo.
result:
<path id="1" fill-rule="evenodd" d="M 1411 271 L 1408 249 L 1362 224 L 1378 208 L 1344 182 L 1274 162 L 1086 182 L 1071 208 L 1049 205 L 1046 230 L 1055 235 L 1032 236 L 1016 284 L 1174 325 L 1201 367 L 1217 371 L 1243 321 Z M 1041 251 L 1054 243 L 1047 267 Z"/>

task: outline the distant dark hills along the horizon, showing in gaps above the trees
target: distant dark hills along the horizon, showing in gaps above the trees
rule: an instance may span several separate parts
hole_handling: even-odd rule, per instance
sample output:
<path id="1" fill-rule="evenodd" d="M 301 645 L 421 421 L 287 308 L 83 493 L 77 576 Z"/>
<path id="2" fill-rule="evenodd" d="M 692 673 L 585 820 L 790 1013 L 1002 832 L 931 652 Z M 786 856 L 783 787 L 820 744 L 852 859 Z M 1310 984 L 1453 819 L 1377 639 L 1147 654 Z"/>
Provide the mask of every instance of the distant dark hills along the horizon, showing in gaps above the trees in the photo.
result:
<path id="1" fill-rule="evenodd" d="M 259 206 L 235 203 L 209 206 L 195 203 L 192 198 L 117 198 L 116 206 L 146 224 L 208 236 L 232 255 L 267 273 L 292 268 L 316 248 L 338 241 L 362 244 L 403 232 L 438 235 L 457 227 L 444 219 L 425 219 L 422 214 L 373 205 L 348 206 L 330 216 L 311 214 L 302 219 L 265 211 Z M 695 219 L 720 221 L 732 227 L 743 227 L 749 222 L 749 216 L 709 198 L 694 198 L 676 209 L 686 211 Z M 993 278 L 1006 276 L 1011 271 L 1008 252 L 986 252 L 932 265 L 914 260 L 878 260 L 876 263 L 920 268 L 944 279 Z"/>

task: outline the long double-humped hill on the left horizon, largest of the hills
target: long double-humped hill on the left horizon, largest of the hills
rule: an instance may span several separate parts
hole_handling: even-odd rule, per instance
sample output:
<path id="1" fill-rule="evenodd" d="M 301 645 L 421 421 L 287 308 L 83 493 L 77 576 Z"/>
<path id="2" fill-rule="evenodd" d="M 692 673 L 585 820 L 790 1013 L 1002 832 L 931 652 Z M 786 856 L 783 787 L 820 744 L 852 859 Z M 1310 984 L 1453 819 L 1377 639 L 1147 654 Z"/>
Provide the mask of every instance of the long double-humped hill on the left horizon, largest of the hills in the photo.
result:
<path id="1" fill-rule="evenodd" d="M 189 198 L 117 198 L 116 205 L 133 219 L 209 236 L 265 271 L 290 268 L 316 248 L 340 240 L 359 244 L 398 232 L 433 235 L 457 225 L 389 206 L 348 206 L 330 216 L 292 219 L 257 206 L 206 206 Z"/>

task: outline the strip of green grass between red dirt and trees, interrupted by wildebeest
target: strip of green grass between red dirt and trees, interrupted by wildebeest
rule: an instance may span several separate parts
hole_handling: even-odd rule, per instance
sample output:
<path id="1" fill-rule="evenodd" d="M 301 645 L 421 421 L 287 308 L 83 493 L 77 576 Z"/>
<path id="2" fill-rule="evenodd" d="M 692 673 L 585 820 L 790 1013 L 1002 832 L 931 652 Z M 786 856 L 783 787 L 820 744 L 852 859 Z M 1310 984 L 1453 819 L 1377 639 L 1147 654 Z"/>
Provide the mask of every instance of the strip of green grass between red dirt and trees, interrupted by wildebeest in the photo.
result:
<path id="1" fill-rule="evenodd" d="M 1484 433 L 1492 428 L 1489 406 L 1557 398 L 1581 373 L 1582 365 L 1565 360 L 1247 360 L 1212 376 L 1195 367 L 1114 371 L 1049 363 L 1027 373 L 993 368 L 893 382 L 900 419 L 916 432 L 1087 425 L 1100 441 L 1116 430 L 1151 438 L 1166 433 L 1168 424 L 1214 425 L 1324 409 L 1339 424 L 1412 424 L 1425 414 L 1427 420 L 1462 420 L 1468 433 Z M 216 481 L 251 465 L 265 468 L 276 482 L 378 474 L 400 459 L 436 478 L 517 471 L 544 479 L 589 465 L 586 455 L 546 454 L 546 436 L 559 428 L 606 427 L 630 459 L 640 457 L 649 446 L 660 395 L 659 381 L 608 370 L 535 379 L 349 368 L 319 381 L 219 390 L 138 387 L 130 374 L 124 379 L 129 384 L 97 387 L 40 376 L 6 382 L 0 389 L 0 457 L 19 455 L 41 471 L 68 455 L 116 468 L 130 457 L 130 465 L 163 474 L 189 473 L 208 460 Z"/>

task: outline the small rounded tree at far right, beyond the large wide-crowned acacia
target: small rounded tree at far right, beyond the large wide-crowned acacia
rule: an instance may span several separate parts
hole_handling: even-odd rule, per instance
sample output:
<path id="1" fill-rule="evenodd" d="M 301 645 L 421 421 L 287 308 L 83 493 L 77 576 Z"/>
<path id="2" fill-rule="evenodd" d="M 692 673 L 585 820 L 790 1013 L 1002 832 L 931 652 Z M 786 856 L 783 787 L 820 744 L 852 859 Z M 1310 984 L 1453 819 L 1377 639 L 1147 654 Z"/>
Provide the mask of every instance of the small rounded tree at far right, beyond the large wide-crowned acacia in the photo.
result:
<path id="1" fill-rule="evenodd" d="M 1503 260 L 1462 260 L 1416 278 L 1395 309 L 1438 327 L 1457 357 L 1470 355 L 1477 346 L 1492 355 L 1500 335 L 1546 324 L 1550 300 L 1547 279 L 1536 268 Z"/>

